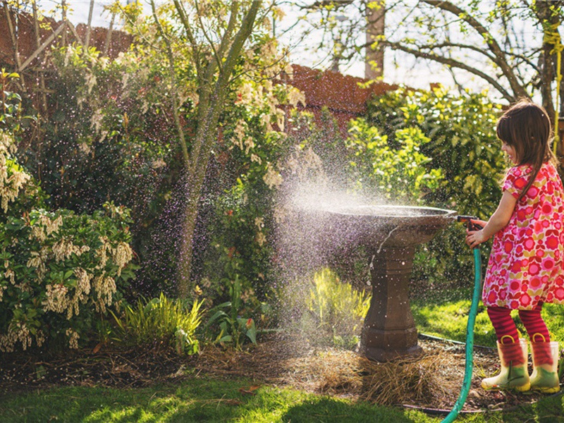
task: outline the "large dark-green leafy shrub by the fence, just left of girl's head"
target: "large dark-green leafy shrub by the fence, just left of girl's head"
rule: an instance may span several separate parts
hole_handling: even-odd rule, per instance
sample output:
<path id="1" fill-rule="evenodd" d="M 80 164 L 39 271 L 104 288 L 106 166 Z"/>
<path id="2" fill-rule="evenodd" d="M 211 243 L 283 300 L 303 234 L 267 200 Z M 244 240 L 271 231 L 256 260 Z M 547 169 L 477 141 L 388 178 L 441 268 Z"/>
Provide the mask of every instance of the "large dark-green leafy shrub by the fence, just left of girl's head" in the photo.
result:
<path id="1" fill-rule="evenodd" d="M 442 87 L 430 91 L 400 88 L 373 99 L 367 121 L 388 135 L 391 145 L 397 142 L 398 130 L 421 130 L 429 138 L 421 152 L 431 159 L 423 166 L 439 168 L 444 176 L 426 197 L 428 204 L 489 219 L 501 198 L 499 184 L 506 167 L 495 132 L 500 111 L 501 106 L 491 102 L 486 92 L 455 95 Z M 471 280 L 472 259 L 464 243 L 464 229 L 453 224 L 420 246 L 414 277 L 455 285 Z M 488 245 L 482 250 L 487 256 Z"/>

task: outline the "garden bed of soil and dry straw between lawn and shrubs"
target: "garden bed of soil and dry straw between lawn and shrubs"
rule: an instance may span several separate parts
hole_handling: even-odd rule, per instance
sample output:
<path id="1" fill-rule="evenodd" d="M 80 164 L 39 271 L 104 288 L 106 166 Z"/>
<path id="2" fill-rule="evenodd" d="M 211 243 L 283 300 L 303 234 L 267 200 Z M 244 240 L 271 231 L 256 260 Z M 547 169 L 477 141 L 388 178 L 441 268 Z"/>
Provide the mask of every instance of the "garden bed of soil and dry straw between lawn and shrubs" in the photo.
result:
<path id="1" fill-rule="evenodd" d="M 243 350 L 207 345 L 200 355 L 109 346 L 76 350 L 60 357 L 31 353 L 0 355 L 0 398 L 6 393 L 54 386 L 132 388 L 153 384 L 182 384 L 194 377 L 245 377 L 254 384 L 292 386 L 312 393 L 427 412 L 448 412 L 462 387 L 465 347 L 420 338 L 424 353 L 407 360 L 376 363 L 349 350 L 317 347 L 307 341 L 269 336 Z M 95 352 L 94 352 L 95 351 Z M 472 387 L 462 412 L 507 410 L 534 403 L 539 393 L 484 391 L 480 380 L 498 371 L 491 348 L 474 348 Z"/>

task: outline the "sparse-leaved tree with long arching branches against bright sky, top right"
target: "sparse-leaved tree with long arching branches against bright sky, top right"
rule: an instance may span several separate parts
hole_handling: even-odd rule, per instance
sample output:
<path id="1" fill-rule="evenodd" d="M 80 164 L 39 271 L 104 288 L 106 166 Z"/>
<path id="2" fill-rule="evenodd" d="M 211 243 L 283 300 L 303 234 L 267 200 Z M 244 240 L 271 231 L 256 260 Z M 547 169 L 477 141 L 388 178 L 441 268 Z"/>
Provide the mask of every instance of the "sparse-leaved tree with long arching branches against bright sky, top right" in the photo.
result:
<path id="1" fill-rule="evenodd" d="M 385 48 L 405 59 L 446 66 L 456 85 L 469 78 L 493 87 L 507 102 L 540 94 L 553 116 L 557 99 L 557 54 L 561 54 L 563 0 L 390 0 L 386 33 L 373 43 L 364 39 L 367 10 L 382 1 L 298 0 L 312 31 L 327 39 L 340 37 L 341 61 L 360 59 L 364 48 Z M 336 16 L 348 16 L 336 20 Z M 337 36 L 338 35 L 338 36 Z M 311 38 L 311 37 L 310 37 Z M 317 46 L 322 48 L 321 44 Z M 403 58 L 403 59 L 402 59 Z M 563 67 L 564 68 L 564 67 Z M 560 73 L 563 71 L 560 70 Z M 384 75 L 385 77 L 385 75 Z M 560 115 L 564 114 L 560 85 Z"/>

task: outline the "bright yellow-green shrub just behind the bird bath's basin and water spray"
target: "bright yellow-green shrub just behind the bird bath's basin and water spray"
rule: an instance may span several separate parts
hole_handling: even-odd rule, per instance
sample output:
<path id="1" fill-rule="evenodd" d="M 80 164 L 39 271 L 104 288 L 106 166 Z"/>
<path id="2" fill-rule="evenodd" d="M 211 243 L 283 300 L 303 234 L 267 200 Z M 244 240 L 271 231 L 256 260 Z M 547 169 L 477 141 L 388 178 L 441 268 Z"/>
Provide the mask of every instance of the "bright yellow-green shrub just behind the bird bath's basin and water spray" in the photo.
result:
<path id="1" fill-rule="evenodd" d="M 343 137 L 326 109 L 321 125 L 307 112 L 295 112 L 291 120 L 297 133 L 293 140 L 314 149 L 326 177 L 339 190 L 386 202 L 429 204 L 429 197 L 444 184 L 443 171 L 422 154 L 430 140 L 419 128 L 394 130 L 392 142 L 389 135 L 381 135 L 382 128 L 364 118 L 350 121 L 348 137 Z M 351 281 L 366 276 L 363 251 L 345 252 L 334 261 L 338 274 Z"/>

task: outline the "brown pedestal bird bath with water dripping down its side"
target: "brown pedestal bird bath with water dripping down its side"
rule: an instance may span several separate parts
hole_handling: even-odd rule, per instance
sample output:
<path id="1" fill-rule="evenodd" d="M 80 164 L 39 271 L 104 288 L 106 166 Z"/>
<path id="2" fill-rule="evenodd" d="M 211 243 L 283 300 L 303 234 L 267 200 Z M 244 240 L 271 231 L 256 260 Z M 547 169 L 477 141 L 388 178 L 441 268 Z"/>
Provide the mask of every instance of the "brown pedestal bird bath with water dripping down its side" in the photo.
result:
<path id="1" fill-rule="evenodd" d="M 429 242 L 455 217 L 452 210 L 433 207 L 364 205 L 317 214 L 317 219 L 326 219 L 326 230 L 367 249 L 372 302 L 360 341 L 360 352 L 367 358 L 388 361 L 422 352 L 408 286 L 415 247 Z"/>

